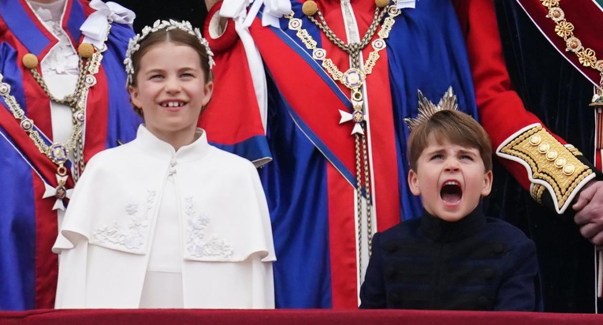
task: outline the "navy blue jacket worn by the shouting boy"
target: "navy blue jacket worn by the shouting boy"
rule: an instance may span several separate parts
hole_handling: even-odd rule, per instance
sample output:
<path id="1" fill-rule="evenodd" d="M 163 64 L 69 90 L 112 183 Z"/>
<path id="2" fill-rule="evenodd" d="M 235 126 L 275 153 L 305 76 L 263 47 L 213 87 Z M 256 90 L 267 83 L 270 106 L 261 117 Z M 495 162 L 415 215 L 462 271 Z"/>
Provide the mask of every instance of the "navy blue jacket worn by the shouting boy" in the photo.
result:
<path id="1" fill-rule="evenodd" d="M 424 212 L 373 238 L 360 308 L 537 311 L 535 245 L 481 206 L 447 222 Z"/>

